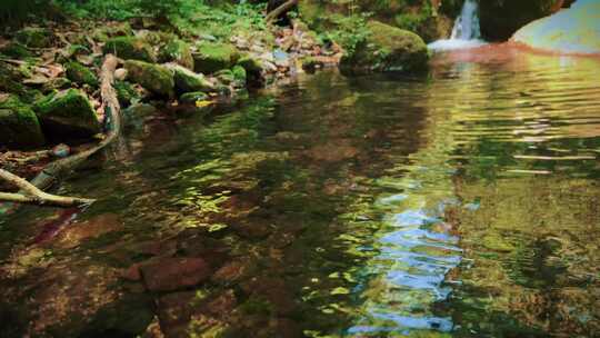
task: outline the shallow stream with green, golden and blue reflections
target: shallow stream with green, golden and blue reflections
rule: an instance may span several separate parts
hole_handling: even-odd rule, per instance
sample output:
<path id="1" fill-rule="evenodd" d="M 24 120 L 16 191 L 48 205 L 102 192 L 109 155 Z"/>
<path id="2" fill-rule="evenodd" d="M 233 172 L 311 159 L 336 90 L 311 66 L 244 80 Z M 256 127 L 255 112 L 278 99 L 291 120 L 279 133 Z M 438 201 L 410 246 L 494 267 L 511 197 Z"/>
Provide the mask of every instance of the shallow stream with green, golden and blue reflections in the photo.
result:
<path id="1" fill-rule="evenodd" d="M 0 336 L 594 337 L 600 59 L 431 66 L 131 123 L 92 207 L 0 215 Z M 164 257 L 210 277 L 148 291 Z"/>

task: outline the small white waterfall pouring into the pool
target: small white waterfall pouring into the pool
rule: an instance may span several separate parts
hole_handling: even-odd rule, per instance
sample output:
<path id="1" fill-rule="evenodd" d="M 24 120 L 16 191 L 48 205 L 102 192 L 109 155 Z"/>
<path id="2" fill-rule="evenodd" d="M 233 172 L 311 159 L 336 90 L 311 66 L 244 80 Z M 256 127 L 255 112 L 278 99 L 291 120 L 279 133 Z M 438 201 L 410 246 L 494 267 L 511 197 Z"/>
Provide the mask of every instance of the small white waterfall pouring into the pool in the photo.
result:
<path id="1" fill-rule="evenodd" d="M 481 30 L 479 29 L 479 7 L 476 0 L 466 0 L 460 16 L 452 28 L 452 36 L 447 40 L 429 43 L 432 50 L 450 50 L 473 48 L 482 46 Z"/>

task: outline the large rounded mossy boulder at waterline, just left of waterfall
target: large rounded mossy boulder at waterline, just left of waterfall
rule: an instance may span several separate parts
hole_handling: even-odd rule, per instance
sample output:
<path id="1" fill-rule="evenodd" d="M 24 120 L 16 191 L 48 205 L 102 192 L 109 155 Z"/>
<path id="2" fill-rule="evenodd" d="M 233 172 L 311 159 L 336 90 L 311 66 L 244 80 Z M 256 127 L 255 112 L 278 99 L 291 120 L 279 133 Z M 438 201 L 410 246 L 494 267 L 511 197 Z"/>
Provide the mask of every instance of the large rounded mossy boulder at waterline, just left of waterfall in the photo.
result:
<path id="1" fill-rule="evenodd" d="M 353 53 L 342 57 L 342 72 L 407 72 L 427 69 L 429 53 L 419 36 L 378 21 L 368 22 L 367 28 L 367 39 Z"/>

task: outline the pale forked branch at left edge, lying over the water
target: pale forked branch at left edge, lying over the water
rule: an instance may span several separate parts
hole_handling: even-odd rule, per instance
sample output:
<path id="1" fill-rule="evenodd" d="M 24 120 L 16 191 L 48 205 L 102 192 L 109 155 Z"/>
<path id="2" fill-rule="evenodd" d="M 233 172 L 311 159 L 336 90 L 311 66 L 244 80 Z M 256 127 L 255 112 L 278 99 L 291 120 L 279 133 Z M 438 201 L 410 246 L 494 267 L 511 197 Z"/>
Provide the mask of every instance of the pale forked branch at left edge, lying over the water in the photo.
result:
<path id="1" fill-rule="evenodd" d="M 4 169 L 0 169 L 0 178 L 22 191 L 22 193 L 0 192 L 0 200 L 3 201 L 52 207 L 84 207 L 94 202 L 93 199 L 63 197 L 43 192 L 27 180 Z"/>

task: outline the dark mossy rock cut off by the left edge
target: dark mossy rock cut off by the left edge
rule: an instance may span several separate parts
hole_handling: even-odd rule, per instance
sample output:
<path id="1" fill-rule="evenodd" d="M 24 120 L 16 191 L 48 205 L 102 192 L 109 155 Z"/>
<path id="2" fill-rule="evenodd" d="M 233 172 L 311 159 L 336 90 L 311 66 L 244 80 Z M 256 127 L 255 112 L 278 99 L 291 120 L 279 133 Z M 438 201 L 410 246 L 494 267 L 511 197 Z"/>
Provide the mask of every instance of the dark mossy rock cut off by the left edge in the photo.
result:
<path id="1" fill-rule="evenodd" d="M 34 148 L 44 143 L 38 117 L 17 97 L 0 101 L 0 145 L 9 148 Z"/>

